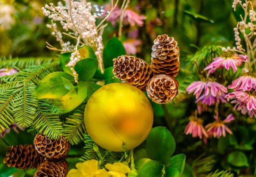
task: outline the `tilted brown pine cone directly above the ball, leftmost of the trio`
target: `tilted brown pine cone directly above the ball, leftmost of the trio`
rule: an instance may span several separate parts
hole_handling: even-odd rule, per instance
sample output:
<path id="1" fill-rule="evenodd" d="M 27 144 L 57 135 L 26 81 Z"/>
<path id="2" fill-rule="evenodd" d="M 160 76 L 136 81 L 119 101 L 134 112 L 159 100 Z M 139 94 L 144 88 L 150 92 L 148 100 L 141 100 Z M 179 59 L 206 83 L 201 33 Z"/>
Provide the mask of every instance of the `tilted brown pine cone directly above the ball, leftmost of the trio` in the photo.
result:
<path id="1" fill-rule="evenodd" d="M 148 63 L 137 57 L 127 55 L 121 55 L 117 59 L 113 59 L 113 62 L 113 73 L 116 78 L 146 91 L 146 85 L 151 74 Z"/>

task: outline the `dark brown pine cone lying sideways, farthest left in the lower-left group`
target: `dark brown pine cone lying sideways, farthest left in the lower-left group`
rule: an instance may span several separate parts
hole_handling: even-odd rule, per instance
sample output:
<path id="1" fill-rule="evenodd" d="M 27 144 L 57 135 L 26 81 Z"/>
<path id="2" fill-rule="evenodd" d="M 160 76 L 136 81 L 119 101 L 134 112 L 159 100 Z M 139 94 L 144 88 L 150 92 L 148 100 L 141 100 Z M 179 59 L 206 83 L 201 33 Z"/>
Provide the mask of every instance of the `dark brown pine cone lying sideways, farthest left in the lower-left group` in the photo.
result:
<path id="1" fill-rule="evenodd" d="M 4 163 L 7 166 L 13 166 L 17 169 L 38 168 L 43 162 L 43 156 L 40 155 L 32 144 L 29 145 L 13 145 L 7 149 Z"/>

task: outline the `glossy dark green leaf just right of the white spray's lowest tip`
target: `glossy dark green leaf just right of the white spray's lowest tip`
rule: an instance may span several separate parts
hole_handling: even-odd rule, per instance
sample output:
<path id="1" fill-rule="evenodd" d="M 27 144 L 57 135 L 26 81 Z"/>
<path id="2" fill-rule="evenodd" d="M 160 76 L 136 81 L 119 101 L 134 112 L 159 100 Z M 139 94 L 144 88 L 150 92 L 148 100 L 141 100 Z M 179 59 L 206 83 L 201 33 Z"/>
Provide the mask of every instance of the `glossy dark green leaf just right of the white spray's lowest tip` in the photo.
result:
<path id="1" fill-rule="evenodd" d="M 83 59 L 78 61 L 75 66 L 79 81 L 90 81 L 97 69 L 97 59 Z"/>

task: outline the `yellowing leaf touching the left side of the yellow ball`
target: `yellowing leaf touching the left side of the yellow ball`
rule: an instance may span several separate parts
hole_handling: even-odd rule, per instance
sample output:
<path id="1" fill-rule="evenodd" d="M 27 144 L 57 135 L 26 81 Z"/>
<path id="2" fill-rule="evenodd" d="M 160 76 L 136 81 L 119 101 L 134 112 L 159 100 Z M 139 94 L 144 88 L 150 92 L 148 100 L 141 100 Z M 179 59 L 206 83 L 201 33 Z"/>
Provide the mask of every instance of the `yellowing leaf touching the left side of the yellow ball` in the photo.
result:
<path id="1" fill-rule="evenodd" d="M 63 104 L 63 114 L 74 110 L 85 100 L 85 98 L 87 98 L 87 86 L 87 82 L 79 81 L 76 86 L 78 92 L 76 92 L 75 89 L 72 89 L 61 98 L 58 98 Z"/>

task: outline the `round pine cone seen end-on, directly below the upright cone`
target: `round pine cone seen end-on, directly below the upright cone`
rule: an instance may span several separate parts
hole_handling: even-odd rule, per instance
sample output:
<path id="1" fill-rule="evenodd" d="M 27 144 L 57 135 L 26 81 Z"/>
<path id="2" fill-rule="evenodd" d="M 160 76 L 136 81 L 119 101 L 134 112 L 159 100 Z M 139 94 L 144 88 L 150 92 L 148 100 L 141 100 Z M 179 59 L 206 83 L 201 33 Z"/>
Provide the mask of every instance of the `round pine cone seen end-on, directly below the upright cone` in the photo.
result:
<path id="1" fill-rule="evenodd" d="M 158 74 L 152 77 L 147 86 L 148 97 L 158 104 L 168 103 L 178 94 L 179 83 L 172 76 Z"/>

